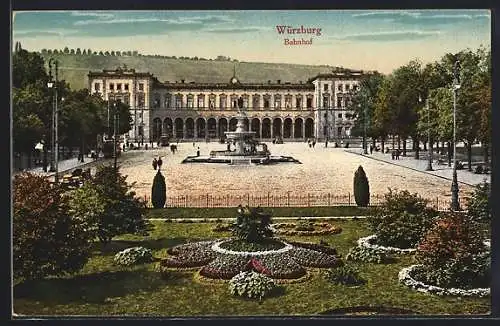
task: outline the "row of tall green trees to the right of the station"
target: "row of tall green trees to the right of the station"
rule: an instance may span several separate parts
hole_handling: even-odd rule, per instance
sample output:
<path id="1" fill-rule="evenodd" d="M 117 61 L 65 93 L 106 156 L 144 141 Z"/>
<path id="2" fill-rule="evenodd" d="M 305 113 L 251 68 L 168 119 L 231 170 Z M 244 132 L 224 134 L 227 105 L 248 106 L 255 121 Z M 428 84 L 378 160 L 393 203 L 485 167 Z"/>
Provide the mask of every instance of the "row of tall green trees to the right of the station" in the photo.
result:
<path id="1" fill-rule="evenodd" d="M 453 142 L 453 65 L 460 61 L 460 88 L 456 97 L 456 140 L 463 142 L 471 170 L 472 145 L 480 142 L 488 162 L 491 144 L 491 50 L 480 47 L 456 54 L 447 53 L 423 65 L 418 60 L 395 69 L 389 75 L 365 75 L 360 87 L 352 91 L 351 109 L 355 118 L 354 136 L 362 136 L 366 122 L 367 137 L 387 141 L 406 155 L 407 140 L 413 142 L 415 157 L 420 145 L 448 148 L 451 164 Z M 428 103 L 428 105 L 427 105 Z M 430 134 L 430 143 L 427 138 Z M 439 148 L 439 145 L 441 147 Z"/>

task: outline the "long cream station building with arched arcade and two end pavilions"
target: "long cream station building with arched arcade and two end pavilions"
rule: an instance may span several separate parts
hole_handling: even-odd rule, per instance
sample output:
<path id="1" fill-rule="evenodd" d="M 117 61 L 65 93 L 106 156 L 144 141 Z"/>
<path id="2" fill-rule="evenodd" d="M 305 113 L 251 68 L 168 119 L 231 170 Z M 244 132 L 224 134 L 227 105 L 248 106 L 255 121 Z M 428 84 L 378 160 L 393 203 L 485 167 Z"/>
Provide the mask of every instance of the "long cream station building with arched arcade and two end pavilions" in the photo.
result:
<path id="1" fill-rule="evenodd" d="M 134 69 L 89 72 L 89 89 L 105 100 L 130 106 L 134 142 L 222 138 L 236 129 L 237 99 L 243 99 L 246 128 L 262 140 L 350 137 L 347 109 L 362 71 L 342 69 L 306 82 L 245 83 L 236 74 L 226 83 L 160 82 Z"/>

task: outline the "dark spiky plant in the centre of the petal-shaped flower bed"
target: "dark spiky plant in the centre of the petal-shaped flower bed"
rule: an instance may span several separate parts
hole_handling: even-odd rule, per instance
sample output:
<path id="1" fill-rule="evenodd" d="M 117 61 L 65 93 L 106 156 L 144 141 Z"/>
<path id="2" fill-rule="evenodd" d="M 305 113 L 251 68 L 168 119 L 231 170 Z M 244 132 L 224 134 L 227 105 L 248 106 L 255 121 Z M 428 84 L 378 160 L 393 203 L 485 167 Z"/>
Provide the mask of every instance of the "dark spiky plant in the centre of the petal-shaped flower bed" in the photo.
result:
<path id="1" fill-rule="evenodd" d="M 262 208 L 238 207 L 238 216 L 233 224 L 233 234 L 247 242 L 260 242 L 273 236 L 271 215 Z"/>

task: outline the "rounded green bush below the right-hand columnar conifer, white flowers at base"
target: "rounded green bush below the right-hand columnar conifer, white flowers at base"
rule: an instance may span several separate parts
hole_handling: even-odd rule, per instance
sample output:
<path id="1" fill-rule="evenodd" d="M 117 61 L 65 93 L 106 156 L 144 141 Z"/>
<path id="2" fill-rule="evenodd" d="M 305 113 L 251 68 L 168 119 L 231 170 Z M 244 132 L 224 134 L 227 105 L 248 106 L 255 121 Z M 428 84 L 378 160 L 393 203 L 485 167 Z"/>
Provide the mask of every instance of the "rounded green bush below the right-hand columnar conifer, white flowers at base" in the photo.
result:
<path id="1" fill-rule="evenodd" d="M 428 202 L 416 193 L 389 189 L 384 203 L 367 218 L 377 244 L 403 249 L 415 247 L 438 215 L 435 209 L 427 207 Z"/>

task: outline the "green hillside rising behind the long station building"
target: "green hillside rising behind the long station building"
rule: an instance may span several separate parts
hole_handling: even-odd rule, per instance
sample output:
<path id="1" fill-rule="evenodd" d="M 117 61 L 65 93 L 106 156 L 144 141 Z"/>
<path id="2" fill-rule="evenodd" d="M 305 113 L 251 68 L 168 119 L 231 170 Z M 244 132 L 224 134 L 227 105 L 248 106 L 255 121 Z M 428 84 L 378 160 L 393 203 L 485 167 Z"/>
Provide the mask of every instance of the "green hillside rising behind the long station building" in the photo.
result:
<path id="1" fill-rule="evenodd" d="M 66 80 L 72 89 L 88 87 L 89 71 L 116 69 L 125 64 L 138 72 L 150 72 L 159 81 L 197 81 L 202 83 L 227 82 L 236 75 L 241 82 L 299 82 L 330 72 L 333 66 L 311 66 L 260 62 L 232 62 L 218 60 L 173 59 L 154 56 L 103 56 L 78 54 L 42 54 L 45 60 L 53 57 L 59 61 L 59 78 Z"/>

